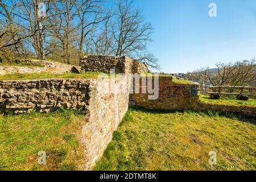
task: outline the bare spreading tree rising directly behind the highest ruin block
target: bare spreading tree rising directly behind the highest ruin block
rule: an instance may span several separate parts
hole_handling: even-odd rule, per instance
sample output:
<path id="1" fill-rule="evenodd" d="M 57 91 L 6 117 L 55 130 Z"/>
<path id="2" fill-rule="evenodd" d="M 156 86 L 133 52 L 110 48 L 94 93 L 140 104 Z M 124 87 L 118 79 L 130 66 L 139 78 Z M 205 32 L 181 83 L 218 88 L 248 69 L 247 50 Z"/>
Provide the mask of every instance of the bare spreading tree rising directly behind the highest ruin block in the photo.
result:
<path id="1" fill-rule="evenodd" d="M 115 18 L 112 26 L 112 49 L 115 55 L 132 55 L 135 51 L 144 51 L 151 41 L 153 28 L 151 23 L 145 22 L 142 11 L 133 8 L 133 1 L 118 0 Z"/>

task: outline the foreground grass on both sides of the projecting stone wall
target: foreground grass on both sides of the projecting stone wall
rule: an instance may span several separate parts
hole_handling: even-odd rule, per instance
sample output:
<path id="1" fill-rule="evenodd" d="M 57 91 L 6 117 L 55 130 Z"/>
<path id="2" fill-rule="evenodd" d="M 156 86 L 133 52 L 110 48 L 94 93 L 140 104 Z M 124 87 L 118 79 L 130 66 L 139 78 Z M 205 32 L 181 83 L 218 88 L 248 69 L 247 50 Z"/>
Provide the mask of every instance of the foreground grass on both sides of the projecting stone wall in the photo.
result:
<path id="1" fill-rule="evenodd" d="M 0 170 L 82 170 L 84 114 L 0 116 Z M 256 170 L 256 120 L 131 108 L 94 170 Z M 45 151 L 46 165 L 38 164 Z M 208 163 L 217 152 L 217 165 Z"/>

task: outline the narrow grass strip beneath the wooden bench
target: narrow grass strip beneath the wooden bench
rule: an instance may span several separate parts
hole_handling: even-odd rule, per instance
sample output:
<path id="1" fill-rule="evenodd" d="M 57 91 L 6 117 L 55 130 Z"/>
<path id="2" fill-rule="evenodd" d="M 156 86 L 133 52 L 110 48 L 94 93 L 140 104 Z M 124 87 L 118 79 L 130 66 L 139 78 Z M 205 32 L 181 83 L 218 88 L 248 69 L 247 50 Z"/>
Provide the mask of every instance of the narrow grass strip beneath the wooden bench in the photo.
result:
<path id="1" fill-rule="evenodd" d="M 210 98 L 209 96 L 201 95 L 200 101 L 206 104 L 212 104 L 212 105 L 256 107 L 256 99 L 253 99 L 253 98 L 250 98 L 248 101 L 240 101 L 240 100 L 236 100 L 235 98 L 228 98 L 228 97 L 215 100 Z"/>

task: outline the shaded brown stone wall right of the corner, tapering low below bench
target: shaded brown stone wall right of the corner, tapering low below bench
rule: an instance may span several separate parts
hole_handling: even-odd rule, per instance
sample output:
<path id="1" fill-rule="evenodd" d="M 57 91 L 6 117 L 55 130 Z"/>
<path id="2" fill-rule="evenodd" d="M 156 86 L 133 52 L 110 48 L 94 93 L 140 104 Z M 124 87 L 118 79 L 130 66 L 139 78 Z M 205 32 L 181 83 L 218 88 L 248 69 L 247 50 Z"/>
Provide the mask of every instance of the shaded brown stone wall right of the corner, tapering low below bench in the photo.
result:
<path id="1" fill-rule="evenodd" d="M 154 82 L 154 78 L 152 82 Z M 172 77 L 159 77 L 159 97 L 157 100 L 148 100 L 148 96 L 151 94 L 142 93 L 142 80 L 140 80 L 137 86 L 139 86 L 140 92 L 130 93 L 129 104 L 131 106 L 142 106 L 147 109 L 159 110 L 216 110 L 221 113 L 239 113 L 247 117 L 256 117 L 255 107 L 213 105 L 201 102 L 198 94 L 199 85 L 197 83 L 177 84 L 172 81 Z"/>

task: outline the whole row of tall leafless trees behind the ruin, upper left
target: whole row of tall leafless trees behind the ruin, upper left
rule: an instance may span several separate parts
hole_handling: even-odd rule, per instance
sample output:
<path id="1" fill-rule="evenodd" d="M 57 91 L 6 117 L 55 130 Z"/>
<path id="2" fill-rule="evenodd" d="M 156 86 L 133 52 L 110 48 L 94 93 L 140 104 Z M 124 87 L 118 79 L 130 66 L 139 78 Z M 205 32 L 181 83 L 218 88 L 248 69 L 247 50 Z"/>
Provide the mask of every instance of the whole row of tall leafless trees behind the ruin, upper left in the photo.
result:
<path id="1" fill-rule="evenodd" d="M 0 56 L 78 64 L 86 54 L 130 56 L 159 68 L 147 51 L 153 28 L 132 0 L 0 0 Z"/>

